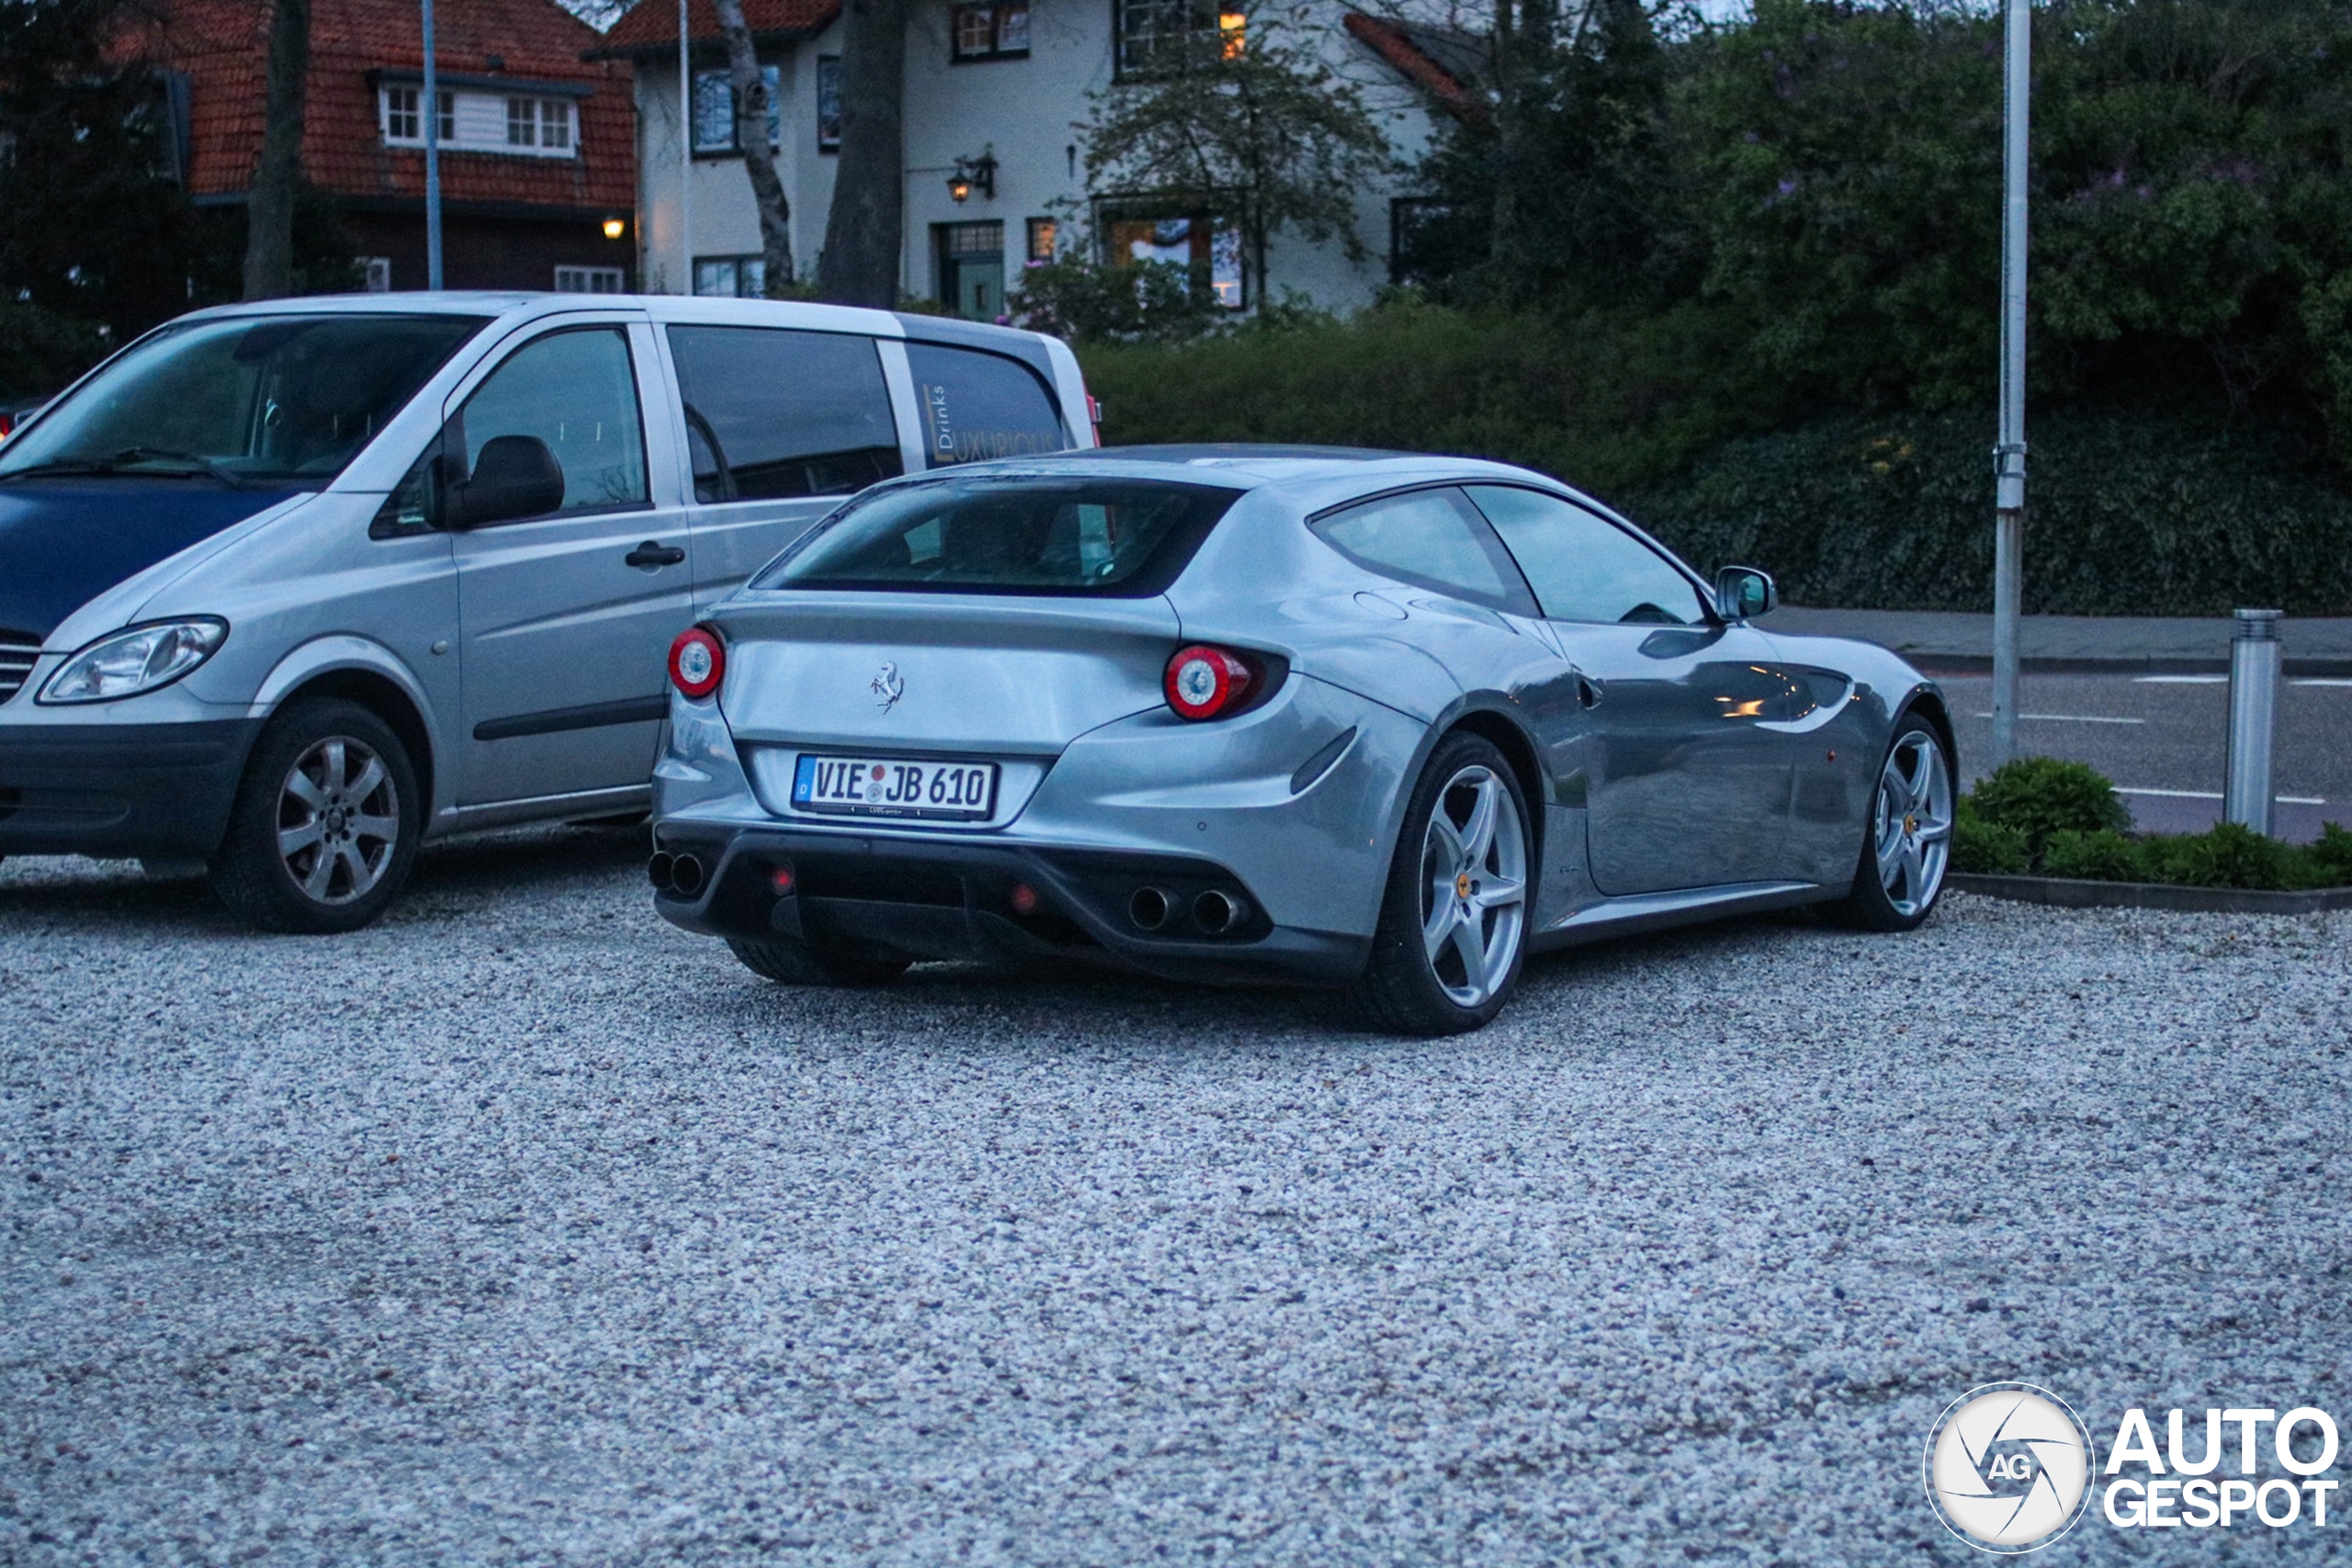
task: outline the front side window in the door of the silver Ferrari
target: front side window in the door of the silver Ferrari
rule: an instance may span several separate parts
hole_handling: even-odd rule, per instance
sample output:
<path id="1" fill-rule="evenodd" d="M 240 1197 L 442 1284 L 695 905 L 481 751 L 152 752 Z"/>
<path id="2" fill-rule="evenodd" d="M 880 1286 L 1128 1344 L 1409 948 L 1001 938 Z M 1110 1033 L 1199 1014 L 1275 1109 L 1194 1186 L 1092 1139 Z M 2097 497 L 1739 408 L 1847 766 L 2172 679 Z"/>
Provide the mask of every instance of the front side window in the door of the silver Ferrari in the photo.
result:
<path id="1" fill-rule="evenodd" d="M 1534 489 L 1465 489 L 1519 559 L 1550 621 L 1708 623 L 1691 578 L 1606 517 Z"/>

